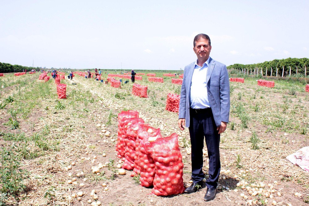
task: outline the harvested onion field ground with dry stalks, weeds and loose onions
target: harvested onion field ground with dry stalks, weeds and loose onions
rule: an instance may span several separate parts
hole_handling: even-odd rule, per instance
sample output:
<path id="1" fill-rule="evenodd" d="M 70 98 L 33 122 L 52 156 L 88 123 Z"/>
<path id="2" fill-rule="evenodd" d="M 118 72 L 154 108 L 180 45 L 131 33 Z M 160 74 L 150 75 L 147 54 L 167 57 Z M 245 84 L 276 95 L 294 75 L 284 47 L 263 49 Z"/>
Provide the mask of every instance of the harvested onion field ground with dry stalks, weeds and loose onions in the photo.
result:
<path id="1" fill-rule="evenodd" d="M 90 206 L 98 201 L 101 205 L 309 203 L 309 173 L 286 160 L 286 156 L 309 142 L 309 93 L 305 92 L 305 84 L 297 81 L 275 81 L 274 88 L 258 86 L 258 79 L 248 76 L 244 83 L 230 82 L 230 123 L 220 139 L 222 174 L 215 200 L 203 201 L 205 188 L 193 194 L 150 195 L 151 188 L 140 186 L 139 178 L 130 176 L 131 171 L 118 174 L 117 166 L 122 162 L 118 162 L 115 152 L 117 114 L 136 110 L 147 124 L 160 128 L 162 136 L 179 135 L 183 179 L 189 184 L 188 128 L 180 131 L 177 113 L 165 109 L 167 94 L 179 94 L 180 85 L 171 84 L 172 77 L 163 73 L 156 76 L 163 77 L 164 82 L 149 82 L 146 75 L 136 80 L 148 86 L 148 98 L 140 98 L 132 95 L 131 81 L 128 84 L 122 81 L 121 88 L 113 88 L 75 74 L 72 81 L 61 79 L 61 84 L 67 84 L 66 99 L 57 99 L 54 79 L 38 80 L 38 73 L 0 77 L 0 203 L 27 206 Z M 106 80 L 107 74 L 101 78 Z M 207 178 L 207 152 L 203 153 Z M 103 166 L 99 174 L 93 174 L 92 167 L 100 163 Z M 96 194 L 91 194 L 92 190 Z"/>

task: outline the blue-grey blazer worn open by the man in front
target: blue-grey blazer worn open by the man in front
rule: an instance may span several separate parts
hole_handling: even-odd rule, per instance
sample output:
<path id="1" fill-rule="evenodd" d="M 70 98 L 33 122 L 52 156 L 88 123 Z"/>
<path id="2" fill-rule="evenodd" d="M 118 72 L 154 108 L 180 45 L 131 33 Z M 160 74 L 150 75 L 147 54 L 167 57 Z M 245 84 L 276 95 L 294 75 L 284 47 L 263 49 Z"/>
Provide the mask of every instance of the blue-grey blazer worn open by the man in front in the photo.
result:
<path id="1" fill-rule="evenodd" d="M 190 126 L 190 89 L 195 62 L 184 67 L 184 78 L 181 85 L 179 118 L 186 119 L 186 127 Z M 229 122 L 230 115 L 230 81 L 226 66 L 209 59 L 206 75 L 207 95 L 214 121 L 219 127 L 221 122 Z"/>

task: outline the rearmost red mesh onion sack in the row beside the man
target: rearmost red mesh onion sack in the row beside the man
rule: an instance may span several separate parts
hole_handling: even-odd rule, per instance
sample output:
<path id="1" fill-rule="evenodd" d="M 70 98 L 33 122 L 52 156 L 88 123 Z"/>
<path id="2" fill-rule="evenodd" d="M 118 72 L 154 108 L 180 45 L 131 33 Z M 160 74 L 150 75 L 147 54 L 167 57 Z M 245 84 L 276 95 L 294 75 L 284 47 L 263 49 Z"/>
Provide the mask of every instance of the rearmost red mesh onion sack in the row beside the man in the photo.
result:
<path id="1" fill-rule="evenodd" d="M 124 129 L 123 124 L 125 121 L 125 118 L 138 118 L 138 111 L 128 110 L 128 111 L 121 111 L 121 113 L 118 114 L 118 135 L 117 135 L 117 142 L 116 142 L 116 152 L 118 152 L 118 144 L 121 142 L 122 139 L 124 139 Z M 125 156 L 121 156 L 118 154 L 118 158 L 124 158 Z"/>

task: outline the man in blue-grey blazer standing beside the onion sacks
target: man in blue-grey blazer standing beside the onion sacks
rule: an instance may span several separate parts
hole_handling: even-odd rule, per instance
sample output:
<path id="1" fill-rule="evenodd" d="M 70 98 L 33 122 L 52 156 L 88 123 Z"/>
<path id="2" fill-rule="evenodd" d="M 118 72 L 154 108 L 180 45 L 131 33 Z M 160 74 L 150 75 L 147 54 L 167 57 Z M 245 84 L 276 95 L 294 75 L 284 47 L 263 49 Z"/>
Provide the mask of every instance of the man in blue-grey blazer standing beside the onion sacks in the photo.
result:
<path id="1" fill-rule="evenodd" d="M 230 82 L 226 66 L 210 58 L 211 43 L 206 34 L 194 37 L 196 62 L 184 68 L 180 92 L 179 120 L 181 130 L 189 127 L 193 183 L 185 192 L 196 192 L 203 185 L 204 136 L 209 158 L 205 201 L 216 196 L 220 174 L 220 134 L 226 130 L 230 114 Z"/>

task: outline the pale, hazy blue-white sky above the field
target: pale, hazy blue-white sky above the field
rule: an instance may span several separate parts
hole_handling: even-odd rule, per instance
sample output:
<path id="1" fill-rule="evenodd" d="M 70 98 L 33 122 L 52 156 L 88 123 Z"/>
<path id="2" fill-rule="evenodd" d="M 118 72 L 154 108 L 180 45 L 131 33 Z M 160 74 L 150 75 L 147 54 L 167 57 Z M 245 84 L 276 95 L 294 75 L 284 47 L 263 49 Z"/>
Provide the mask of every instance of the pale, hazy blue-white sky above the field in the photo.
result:
<path id="1" fill-rule="evenodd" d="M 171 69 L 211 38 L 224 64 L 309 58 L 309 1 L 3 1 L 0 62 L 35 67 Z"/>

